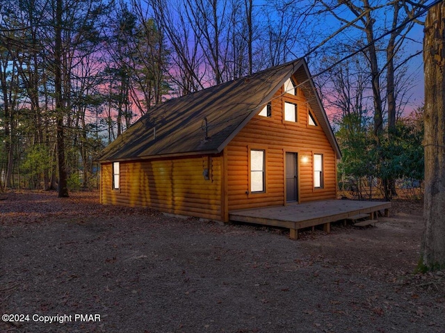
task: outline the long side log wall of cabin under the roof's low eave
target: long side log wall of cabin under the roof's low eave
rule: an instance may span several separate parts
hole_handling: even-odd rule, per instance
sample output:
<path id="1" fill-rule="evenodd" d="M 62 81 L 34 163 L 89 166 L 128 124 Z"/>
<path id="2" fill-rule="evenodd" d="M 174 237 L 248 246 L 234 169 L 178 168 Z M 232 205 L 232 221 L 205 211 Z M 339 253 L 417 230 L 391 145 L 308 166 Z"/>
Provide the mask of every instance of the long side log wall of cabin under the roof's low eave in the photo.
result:
<path id="1" fill-rule="evenodd" d="M 149 206 L 179 215 L 223 220 L 222 156 L 120 162 L 120 188 L 113 189 L 113 163 L 101 170 L 102 204 Z M 209 180 L 203 170 L 211 165 Z"/>

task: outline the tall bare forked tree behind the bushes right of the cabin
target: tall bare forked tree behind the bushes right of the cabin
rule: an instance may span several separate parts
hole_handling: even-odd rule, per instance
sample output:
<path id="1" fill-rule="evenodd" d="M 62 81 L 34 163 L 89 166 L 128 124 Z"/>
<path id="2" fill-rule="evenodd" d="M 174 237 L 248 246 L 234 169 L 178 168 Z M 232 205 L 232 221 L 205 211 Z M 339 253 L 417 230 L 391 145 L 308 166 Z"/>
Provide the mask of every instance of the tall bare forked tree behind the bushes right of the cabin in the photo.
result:
<path id="1" fill-rule="evenodd" d="M 384 129 L 385 111 L 388 119 L 388 137 L 396 130 L 396 114 L 398 106 L 402 105 L 401 97 L 397 89 L 404 88 L 398 85 L 398 71 L 403 72 L 405 59 L 412 55 L 399 56 L 403 50 L 403 44 L 407 40 L 407 34 L 414 26 L 412 18 L 423 10 L 423 1 L 391 1 L 388 3 L 373 3 L 369 0 L 329 2 L 321 1 L 325 10 L 328 10 L 342 24 L 350 24 L 351 20 L 345 12 L 355 16 L 356 20 L 350 26 L 361 33 L 357 37 L 357 49 L 363 50 L 369 65 L 368 73 L 371 79 L 373 92 L 373 134 L 376 146 L 380 147 Z M 382 12 L 383 11 L 383 12 Z M 379 14 L 380 13 L 380 14 Z M 385 13 L 389 16 L 389 22 L 378 19 L 378 15 Z M 381 38 L 381 36 L 388 36 Z M 360 38 L 364 38 L 362 41 Z M 348 41 L 350 44 L 350 41 Z M 385 54 L 385 58 L 383 57 Z M 415 54 L 414 54 L 415 55 Z M 400 63 L 396 63 L 399 60 Z M 383 84 L 383 82 L 386 83 Z M 400 82 L 400 81 L 399 81 Z M 383 156 L 381 156 L 383 159 Z M 383 177 L 385 198 L 390 200 L 396 194 L 395 182 L 391 177 Z"/>

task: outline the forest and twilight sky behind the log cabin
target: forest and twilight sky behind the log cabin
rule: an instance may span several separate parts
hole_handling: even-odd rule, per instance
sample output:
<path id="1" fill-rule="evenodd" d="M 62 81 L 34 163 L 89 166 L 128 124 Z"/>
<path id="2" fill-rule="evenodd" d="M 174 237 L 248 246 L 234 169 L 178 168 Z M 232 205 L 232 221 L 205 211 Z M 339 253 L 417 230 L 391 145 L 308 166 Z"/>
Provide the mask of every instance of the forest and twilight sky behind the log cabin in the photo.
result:
<path id="1" fill-rule="evenodd" d="M 97 188 L 95 156 L 154 105 L 305 57 L 341 190 L 421 195 L 422 21 L 439 2 L 0 0 L 0 188 Z"/>

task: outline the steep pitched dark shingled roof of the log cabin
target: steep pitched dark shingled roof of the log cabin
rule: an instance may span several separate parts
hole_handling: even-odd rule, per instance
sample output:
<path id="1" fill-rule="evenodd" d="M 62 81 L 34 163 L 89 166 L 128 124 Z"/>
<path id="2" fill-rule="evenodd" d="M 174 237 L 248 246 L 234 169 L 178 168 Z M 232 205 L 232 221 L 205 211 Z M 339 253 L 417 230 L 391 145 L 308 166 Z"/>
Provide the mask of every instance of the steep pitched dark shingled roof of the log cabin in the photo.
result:
<path id="1" fill-rule="evenodd" d="M 292 74 L 302 83 L 301 88 L 339 158 L 339 146 L 307 64 L 298 59 L 155 106 L 108 145 L 97 161 L 221 152 Z"/>

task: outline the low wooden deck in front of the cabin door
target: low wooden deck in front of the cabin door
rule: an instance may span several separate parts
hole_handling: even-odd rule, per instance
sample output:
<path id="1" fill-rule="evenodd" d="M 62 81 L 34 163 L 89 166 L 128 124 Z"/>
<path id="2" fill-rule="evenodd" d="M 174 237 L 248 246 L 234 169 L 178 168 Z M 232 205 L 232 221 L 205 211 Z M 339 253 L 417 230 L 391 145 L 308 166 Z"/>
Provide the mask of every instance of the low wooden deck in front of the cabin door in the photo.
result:
<path id="1" fill-rule="evenodd" d="M 289 228 L 290 238 L 297 239 L 298 229 L 323 225 L 325 232 L 330 232 L 331 222 L 344 221 L 364 213 L 369 214 L 371 220 L 375 220 L 377 211 L 384 211 L 385 216 L 389 216 L 390 208 L 391 202 L 324 200 L 230 211 L 229 220 Z"/>

